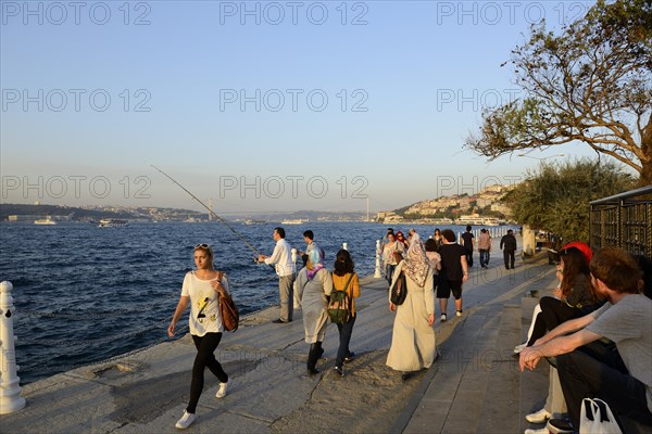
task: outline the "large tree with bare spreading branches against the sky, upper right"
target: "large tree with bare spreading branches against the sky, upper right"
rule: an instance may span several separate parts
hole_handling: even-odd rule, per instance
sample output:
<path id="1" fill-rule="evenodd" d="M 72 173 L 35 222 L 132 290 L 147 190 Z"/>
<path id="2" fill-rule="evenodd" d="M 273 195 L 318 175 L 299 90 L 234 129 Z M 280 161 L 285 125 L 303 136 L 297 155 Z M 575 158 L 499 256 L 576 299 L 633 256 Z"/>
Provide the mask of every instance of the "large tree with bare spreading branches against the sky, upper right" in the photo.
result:
<path id="1" fill-rule="evenodd" d="M 559 36 L 535 25 L 509 63 L 525 98 L 486 110 L 466 148 L 493 159 L 582 142 L 652 183 L 652 2 L 599 0 Z"/>

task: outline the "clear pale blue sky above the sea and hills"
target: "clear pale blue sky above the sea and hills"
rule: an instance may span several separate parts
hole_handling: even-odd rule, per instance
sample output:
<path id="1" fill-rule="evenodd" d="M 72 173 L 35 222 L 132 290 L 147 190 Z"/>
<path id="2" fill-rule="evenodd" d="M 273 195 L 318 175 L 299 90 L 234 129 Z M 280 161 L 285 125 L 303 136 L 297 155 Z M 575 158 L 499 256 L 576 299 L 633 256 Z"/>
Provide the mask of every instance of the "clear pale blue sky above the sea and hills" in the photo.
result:
<path id="1" fill-rule="evenodd" d="M 393 209 L 592 155 L 463 148 L 580 1 L 1 1 L 3 203 Z M 560 154 L 564 154 L 561 156 Z"/>

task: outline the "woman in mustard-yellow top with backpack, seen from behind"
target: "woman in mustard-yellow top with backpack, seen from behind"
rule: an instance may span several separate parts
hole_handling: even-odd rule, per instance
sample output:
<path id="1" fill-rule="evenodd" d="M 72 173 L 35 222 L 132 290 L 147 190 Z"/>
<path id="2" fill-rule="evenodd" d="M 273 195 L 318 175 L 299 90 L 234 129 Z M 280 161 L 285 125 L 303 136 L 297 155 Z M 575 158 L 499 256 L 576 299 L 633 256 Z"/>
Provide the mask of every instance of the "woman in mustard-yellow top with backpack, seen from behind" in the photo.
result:
<path id="1" fill-rule="evenodd" d="M 344 361 L 350 361 L 354 357 L 354 354 L 349 350 L 349 342 L 351 342 L 353 324 L 356 318 L 355 298 L 360 296 L 360 281 L 358 275 L 353 271 L 353 260 L 349 252 L 343 248 L 339 251 L 335 258 L 333 270 L 333 288 L 342 291 L 346 286 L 347 296 L 351 299 L 351 318 L 343 324 L 337 324 L 340 335 L 340 346 L 337 350 L 337 359 L 335 360 L 335 371 L 341 376 L 344 376 Z"/>

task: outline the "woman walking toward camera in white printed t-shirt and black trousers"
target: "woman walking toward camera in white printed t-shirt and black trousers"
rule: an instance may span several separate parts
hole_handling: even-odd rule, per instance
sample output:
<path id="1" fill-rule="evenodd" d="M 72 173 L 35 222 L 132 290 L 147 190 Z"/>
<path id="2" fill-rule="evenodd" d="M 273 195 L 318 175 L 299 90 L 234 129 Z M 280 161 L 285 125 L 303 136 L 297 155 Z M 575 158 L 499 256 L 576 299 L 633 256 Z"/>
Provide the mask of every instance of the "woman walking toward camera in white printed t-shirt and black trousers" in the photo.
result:
<path id="1" fill-rule="evenodd" d="M 197 270 L 189 271 L 184 278 L 181 296 L 177 304 L 167 335 L 174 336 L 174 330 L 184 310 L 190 304 L 190 335 L 197 347 L 197 356 L 192 365 L 192 382 L 190 383 L 190 400 L 176 427 L 185 430 L 195 422 L 195 410 L 201 396 L 204 383 L 204 369 L 208 367 L 220 380 L 216 398 L 223 398 L 228 390 L 228 375 L 213 354 L 222 340 L 224 326 L 217 308 L 218 294 L 229 294 L 228 280 L 223 271 L 213 268 L 213 251 L 208 244 L 195 246 L 195 265 Z"/>

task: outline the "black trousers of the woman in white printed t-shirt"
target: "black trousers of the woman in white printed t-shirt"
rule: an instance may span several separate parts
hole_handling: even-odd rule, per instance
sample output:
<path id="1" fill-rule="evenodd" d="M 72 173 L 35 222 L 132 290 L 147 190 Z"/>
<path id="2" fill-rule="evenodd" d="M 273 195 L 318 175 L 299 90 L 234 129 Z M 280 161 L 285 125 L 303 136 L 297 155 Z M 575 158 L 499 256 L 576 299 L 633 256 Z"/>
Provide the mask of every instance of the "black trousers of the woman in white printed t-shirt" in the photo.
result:
<path id="1" fill-rule="evenodd" d="M 221 383 L 228 381 L 228 375 L 222 369 L 222 365 L 215 359 L 213 354 L 220 345 L 222 340 L 222 333 L 206 333 L 203 336 L 196 336 L 192 334 L 192 342 L 197 347 L 197 356 L 195 356 L 195 363 L 192 365 L 192 382 L 190 383 L 190 400 L 186 411 L 195 413 L 197 403 L 203 391 L 203 372 L 205 368 L 209 368 L 211 372 L 217 376 Z"/>

